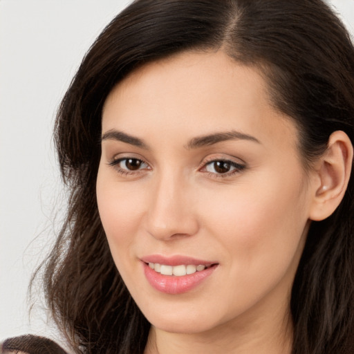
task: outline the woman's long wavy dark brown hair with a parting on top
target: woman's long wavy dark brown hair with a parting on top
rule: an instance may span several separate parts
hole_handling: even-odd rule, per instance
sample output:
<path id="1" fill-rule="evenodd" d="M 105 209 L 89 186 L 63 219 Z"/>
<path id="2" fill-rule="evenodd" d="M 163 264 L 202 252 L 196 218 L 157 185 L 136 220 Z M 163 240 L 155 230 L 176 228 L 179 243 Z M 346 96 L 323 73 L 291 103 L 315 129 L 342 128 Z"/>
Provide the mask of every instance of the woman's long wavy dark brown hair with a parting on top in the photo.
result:
<path id="1" fill-rule="evenodd" d="M 333 131 L 354 141 L 354 48 L 323 1 L 133 2 L 84 57 L 55 127 L 71 197 L 45 263 L 44 286 L 50 311 L 76 353 L 143 353 L 150 328 L 115 268 L 97 211 L 104 101 L 147 62 L 219 49 L 261 69 L 274 106 L 299 127 L 306 164 L 325 151 Z M 352 176 L 332 216 L 311 224 L 292 288 L 292 354 L 353 353 L 353 183 Z"/>

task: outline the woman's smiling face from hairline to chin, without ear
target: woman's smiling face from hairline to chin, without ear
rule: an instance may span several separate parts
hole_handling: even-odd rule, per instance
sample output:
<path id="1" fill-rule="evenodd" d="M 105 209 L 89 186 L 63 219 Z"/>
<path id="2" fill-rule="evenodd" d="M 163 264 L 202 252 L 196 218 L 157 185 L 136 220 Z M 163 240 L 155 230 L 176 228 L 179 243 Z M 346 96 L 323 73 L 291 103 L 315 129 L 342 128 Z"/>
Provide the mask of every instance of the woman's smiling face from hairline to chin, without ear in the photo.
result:
<path id="1" fill-rule="evenodd" d="M 295 124 L 272 107 L 261 75 L 222 51 L 147 64 L 104 104 L 100 216 L 156 328 L 283 320 L 309 190 Z"/>

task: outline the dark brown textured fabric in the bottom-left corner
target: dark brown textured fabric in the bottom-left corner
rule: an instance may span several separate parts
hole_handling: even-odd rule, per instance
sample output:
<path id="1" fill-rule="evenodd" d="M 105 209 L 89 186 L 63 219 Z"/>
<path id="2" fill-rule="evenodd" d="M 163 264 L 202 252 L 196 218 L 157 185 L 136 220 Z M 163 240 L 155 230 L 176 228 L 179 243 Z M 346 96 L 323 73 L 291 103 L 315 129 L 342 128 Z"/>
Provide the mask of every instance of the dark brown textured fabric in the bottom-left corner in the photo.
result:
<path id="1" fill-rule="evenodd" d="M 1 343 L 1 354 L 67 354 L 52 340 L 37 335 L 21 335 Z"/>

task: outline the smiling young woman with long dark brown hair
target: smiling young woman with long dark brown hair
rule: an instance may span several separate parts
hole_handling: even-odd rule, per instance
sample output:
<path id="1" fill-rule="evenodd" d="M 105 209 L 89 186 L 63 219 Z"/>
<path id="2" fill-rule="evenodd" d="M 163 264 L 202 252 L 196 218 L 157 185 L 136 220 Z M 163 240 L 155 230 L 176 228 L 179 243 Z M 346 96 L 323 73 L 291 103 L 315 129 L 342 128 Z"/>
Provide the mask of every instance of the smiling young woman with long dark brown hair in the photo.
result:
<path id="1" fill-rule="evenodd" d="M 140 0 L 59 109 L 45 270 L 75 353 L 354 353 L 354 48 L 320 0 Z"/>

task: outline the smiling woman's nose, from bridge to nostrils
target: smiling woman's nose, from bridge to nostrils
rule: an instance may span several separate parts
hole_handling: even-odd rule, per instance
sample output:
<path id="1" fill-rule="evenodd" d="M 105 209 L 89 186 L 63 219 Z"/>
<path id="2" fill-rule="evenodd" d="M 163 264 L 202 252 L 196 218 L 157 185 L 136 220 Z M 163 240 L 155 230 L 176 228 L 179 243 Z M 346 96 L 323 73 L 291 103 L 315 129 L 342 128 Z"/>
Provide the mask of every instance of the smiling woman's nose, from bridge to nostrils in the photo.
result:
<path id="1" fill-rule="evenodd" d="M 193 195 L 193 187 L 174 174 L 156 180 L 150 192 L 147 232 L 163 241 L 196 234 L 199 226 Z"/>

